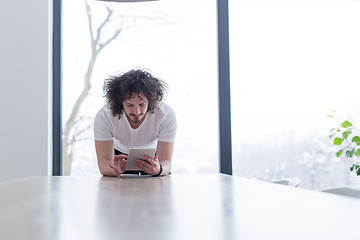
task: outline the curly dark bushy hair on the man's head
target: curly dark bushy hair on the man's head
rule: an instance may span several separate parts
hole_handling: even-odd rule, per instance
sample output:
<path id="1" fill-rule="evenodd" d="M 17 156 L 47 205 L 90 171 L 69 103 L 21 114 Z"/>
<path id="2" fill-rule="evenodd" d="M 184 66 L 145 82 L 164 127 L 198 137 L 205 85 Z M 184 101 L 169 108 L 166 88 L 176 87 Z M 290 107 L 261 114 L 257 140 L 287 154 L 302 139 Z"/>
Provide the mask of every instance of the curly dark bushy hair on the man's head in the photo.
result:
<path id="1" fill-rule="evenodd" d="M 149 72 L 133 69 L 119 76 L 110 76 L 104 82 L 104 96 L 113 116 L 120 118 L 124 111 L 123 102 L 133 94 L 142 93 L 149 101 L 148 112 L 154 112 L 158 102 L 167 93 L 167 85 Z"/>

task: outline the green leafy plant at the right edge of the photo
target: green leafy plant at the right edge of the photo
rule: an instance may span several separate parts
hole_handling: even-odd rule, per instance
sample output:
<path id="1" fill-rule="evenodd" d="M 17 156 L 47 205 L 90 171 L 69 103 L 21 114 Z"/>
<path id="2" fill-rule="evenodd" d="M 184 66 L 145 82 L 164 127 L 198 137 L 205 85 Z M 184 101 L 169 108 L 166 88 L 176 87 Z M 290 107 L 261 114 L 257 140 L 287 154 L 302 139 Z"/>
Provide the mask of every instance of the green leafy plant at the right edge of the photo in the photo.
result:
<path id="1" fill-rule="evenodd" d="M 331 115 L 328 116 L 333 117 Z M 356 163 L 350 167 L 350 171 L 354 171 L 357 176 L 360 176 L 360 137 L 352 136 L 350 141 L 353 129 L 352 123 L 345 120 L 339 127 L 331 129 L 329 138 L 333 140 L 335 146 L 341 148 L 336 152 L 336 157 L 340 157 L 345 152 L 347 158 L 356 160 Z"/>

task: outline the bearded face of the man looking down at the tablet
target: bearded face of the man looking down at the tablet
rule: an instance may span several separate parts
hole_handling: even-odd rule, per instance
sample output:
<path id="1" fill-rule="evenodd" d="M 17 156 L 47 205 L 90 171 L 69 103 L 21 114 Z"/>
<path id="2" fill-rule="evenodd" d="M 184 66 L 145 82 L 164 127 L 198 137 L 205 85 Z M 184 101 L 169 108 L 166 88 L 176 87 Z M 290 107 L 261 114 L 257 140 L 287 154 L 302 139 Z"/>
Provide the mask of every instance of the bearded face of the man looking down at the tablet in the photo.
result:
<path id="1" fill-rule="evenodd" d="M 126 117 L 132 123 L 141 123 L 144 120 L 148 106 L 149 102 L 142 93 L 134 93 L 123 102 Z"/>

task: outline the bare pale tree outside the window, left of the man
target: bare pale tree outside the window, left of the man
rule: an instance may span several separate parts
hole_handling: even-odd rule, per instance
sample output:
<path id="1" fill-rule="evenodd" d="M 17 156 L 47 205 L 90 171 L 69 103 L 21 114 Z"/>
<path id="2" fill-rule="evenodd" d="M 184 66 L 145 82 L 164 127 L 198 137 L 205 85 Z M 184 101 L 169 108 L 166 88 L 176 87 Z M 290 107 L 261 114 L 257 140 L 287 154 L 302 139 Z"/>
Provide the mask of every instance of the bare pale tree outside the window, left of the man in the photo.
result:
<path id="1" fill-rule="evenodd" d="M 134 27 L 143 27 L 142 24 L 139 23 L 139 20 L 151 20 L 152 22 L 157 22 L 159 24 L 162 22 L 164 24 L 164 14 L 155 14 L 156 17 L 145 16 L 144 14 L 136 14 L 132 16 L 123 15 L 117 6 L 119 4 L 104 4 L 107 14 L 103 21 L 98 25 L 96 30 L 94 30 L 94 26 L 96 23 L 93 22 L 94 14 L 92 12 L 92 6 L 85 0 L 85 8 L 88 20 L 88 28 L 90 35 L 90 43 L 91 43 L 91 56 L 87 65 L 87 70 L 84 74 L 84 85 L 80 95 L 78 96 L 75 104 L 71 110 L 71 113 L 65 122 L 65 126 L 63 129 L 63 169 L 64 174 L 69 175 L 71 171 L 71 164 L 74 155 L 74 144 L 75 142 L 83 141 L 83 140 L 93 140 L 84 135 L 87 131 L 90 130 L 93 123 L 92 121 L 88 123 L 84 127 L 84 120 L 92 120 L 88 117 L 78 117 L 81 107 L 85 99 L 89 96 L 89 92 L 91 89 L 91 77 L 94 70 L 94 66 L 96 63 L 96 59 L 99 53 L 108 46 L 111 42 L 117 39 L 120 33 L 123 33 L 124 30 L 134 28 Z M 158 21 L 160 19 L 160 22 Z M 115 29 L 106 31 L 108 29 Z M 95 32 L 96 33 L 95 33 Z M 96 34 L 96 36 L 95 36 Z"/>

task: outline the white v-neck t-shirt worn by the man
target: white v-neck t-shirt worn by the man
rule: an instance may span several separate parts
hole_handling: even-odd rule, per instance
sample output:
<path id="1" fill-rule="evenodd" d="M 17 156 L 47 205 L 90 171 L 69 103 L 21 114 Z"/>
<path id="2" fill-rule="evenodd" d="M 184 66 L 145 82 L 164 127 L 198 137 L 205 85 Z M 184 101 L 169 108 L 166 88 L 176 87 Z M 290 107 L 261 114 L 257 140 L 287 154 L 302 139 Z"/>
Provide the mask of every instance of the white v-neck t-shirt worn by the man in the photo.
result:
<path id="1" fill-rule="evenodd" d="M 157 142 L 174 142 L 176 135 L 176 116 L 165 103 L 160 102 L 154 113 L 146 113 L 142 124 L 133 129 L 125 114 L 114 117 L 107 105 L 96 114 L 94 137 L 97 141 L 114 141 L 115 149 L 129 153 L 131 147 L 153 147 Z"/>

